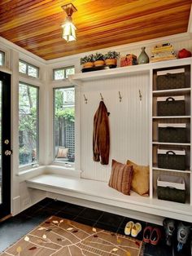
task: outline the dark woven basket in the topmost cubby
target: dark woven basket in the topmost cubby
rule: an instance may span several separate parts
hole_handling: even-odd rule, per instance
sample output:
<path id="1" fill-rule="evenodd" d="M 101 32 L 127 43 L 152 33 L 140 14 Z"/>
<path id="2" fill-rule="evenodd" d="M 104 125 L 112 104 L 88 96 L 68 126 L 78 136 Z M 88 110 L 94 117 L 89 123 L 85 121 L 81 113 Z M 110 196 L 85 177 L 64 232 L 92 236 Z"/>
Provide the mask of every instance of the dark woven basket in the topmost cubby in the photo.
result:
<path id="1" fill-rule="evenodd" d="M 179 89 L 185 87 L 185 73 L 166 73 L 157 76 L 157 90 Z"/>

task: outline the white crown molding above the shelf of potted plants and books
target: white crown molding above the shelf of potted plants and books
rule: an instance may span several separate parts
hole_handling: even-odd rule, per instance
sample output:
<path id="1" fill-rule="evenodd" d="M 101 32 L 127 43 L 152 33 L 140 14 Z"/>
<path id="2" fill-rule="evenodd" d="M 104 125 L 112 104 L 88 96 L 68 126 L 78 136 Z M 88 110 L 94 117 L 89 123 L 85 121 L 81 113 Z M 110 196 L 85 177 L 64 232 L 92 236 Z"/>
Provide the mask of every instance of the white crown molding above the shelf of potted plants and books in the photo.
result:
<path id="1" fill-rule="evenodd" d="M 168 37 L 163 37 L 163 38 L 155 38 L 155 39 L 149 39 L 149 40 L 145 40 L 145 41 L 140 41 L 140 42 L 132 42 L 129 44 L 124 44 L 121 46 L 113 46 L 113 47 L 107 47 L 107 48 L 102 48 L 102 49 L 98 49 L 97 51 L 100 51 L 102 53 L 106 53 L 107 51 L 121 51 L 121 52 L 129 52 L 129 50 L 133 50 L 133 49 L 137 49 L 140 48 L 141 46 L 154 46 L 155 44 L 159 44 L 159 43 L 164 43 L 164 42 L 181 42 L 181 41 L 185 41 L 185 40 L 190 40 L 191 39 L 191 35 L 190 33 L 178 33 L 172 36 L 168 36 Z M 46 64 L 59 64 L 60 62 L 63 61 L 68 61 L 68 60 L 80 60 L 81 57 L 85 56 L 85 55 L 89 55 L 91 53 L 95 53 L 96 51 L 89 51 L 89 52 L 83 52 L 80 54 L 76 54 L 76 55 L 69 55 L 66 57 L 61 57 L 61 58 L 57 58 L 57 59 L 53 59 L 53 60 L 47 60 Z"/>

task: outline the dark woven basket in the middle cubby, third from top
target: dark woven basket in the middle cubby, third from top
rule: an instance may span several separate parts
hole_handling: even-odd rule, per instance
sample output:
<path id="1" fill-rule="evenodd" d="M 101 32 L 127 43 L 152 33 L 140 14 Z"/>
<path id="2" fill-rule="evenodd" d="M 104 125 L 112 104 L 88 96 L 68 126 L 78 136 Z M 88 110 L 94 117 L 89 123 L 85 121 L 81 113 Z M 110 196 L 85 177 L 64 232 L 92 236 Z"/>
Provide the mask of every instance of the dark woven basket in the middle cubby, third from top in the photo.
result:
<path id="1" fill-rule="evenodd" d="M 159 142 L 187 143 L 186 124 L 159 124 Z"/>

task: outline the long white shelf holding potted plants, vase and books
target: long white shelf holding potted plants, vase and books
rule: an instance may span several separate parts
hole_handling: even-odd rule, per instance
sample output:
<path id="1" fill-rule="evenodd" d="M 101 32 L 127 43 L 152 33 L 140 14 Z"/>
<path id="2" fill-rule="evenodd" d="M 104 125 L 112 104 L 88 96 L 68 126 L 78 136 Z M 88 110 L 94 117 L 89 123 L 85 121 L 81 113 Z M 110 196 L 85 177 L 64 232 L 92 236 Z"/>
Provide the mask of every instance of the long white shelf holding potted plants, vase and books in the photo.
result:
<path id="1" fill-rule="evenodd" d="M 120 68 L 109 68 L 98 71 L 76 73 L 68 76 L 70 82 L 81 85 L 81 82 L 92 81 L 97 79 L 106 79 L 108 77 L 125 77 L 133 73 L 150 73 L 155 68 L 168 68 L 173 66 L 180 66 L 192 64 L 192 58 L 177 59 L 177 60 L 166 60 L 157 63 L 140 64 Z"/>

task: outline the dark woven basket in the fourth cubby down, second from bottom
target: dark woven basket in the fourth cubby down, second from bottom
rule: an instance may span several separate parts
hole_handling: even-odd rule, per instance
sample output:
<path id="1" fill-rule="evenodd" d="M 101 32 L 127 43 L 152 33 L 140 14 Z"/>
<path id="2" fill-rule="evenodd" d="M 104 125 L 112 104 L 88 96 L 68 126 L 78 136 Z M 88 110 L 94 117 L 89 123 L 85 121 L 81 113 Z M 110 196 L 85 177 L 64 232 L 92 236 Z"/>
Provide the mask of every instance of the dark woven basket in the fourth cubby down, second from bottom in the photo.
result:
<path id="1" fill-rule="evenodd" d="M 185 150 L 158 149 L 158 167 L 173 170 L 185 170 Z"/>

